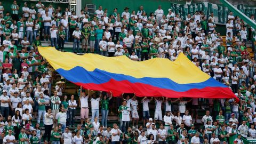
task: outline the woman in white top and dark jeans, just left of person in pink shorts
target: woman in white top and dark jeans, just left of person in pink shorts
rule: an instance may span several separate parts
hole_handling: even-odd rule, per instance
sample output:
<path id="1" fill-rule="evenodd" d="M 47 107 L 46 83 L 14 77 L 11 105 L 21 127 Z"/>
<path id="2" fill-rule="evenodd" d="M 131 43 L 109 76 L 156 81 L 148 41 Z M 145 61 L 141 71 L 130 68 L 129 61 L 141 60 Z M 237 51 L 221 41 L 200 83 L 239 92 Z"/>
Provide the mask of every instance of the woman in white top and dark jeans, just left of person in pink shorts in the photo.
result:
<path id="1" fill-rule="evenodd" d="M 69 117 L 69 126 L 74 125 L 75 113 L 76 113 L 76 100 L 74 100 L 74 95 L 71 95 L 71 99 L 68 101 L 68 117 Z"/>

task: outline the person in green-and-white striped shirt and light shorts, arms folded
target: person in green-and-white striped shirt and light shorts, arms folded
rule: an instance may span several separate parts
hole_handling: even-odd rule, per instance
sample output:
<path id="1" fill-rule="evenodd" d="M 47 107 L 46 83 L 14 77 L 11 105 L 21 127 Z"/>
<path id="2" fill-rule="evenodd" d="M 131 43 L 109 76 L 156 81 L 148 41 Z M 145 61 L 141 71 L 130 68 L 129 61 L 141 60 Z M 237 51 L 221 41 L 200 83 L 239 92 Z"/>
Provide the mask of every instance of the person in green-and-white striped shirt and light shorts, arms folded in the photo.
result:
<path id="1" fill-rule="evenodd" d="M 53 118 L 54 118 L 54 124 L 55 126 L 57 126 L 57 121 L 56 121 L 56 115 L 57 113 L 59 113 L 60 111 L 60 97 L 58 97 L 57 95 L 57 91 L 54 91 L 54 95 L 51 97 L 51 105 L 52 105 L 52 115 L 53 115 Z"/>

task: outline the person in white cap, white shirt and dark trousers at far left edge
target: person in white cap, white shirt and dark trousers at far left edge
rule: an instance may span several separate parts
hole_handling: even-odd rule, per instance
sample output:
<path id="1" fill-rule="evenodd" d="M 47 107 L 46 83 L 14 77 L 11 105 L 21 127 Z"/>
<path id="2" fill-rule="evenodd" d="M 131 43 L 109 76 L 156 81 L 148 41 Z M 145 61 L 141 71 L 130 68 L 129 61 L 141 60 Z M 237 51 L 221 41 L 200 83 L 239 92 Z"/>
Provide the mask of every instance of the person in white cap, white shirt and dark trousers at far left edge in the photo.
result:
<path id="1" fill-rule="evenodd" d="M 3 90 L 3 95 L 0 97 L 1 101 L 1 114 L 3 115 L 4 119 L 7 120 L 9 116 L 9 102 L 11 99 L 7 96 L 7 90 Z"/>

